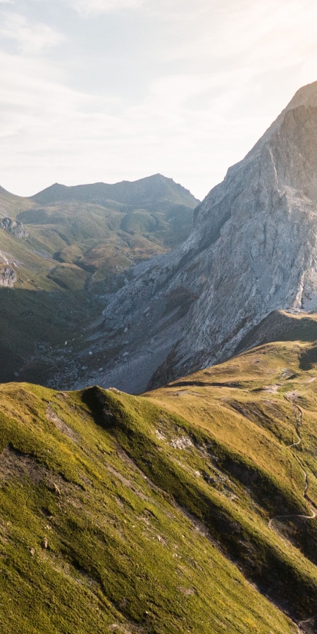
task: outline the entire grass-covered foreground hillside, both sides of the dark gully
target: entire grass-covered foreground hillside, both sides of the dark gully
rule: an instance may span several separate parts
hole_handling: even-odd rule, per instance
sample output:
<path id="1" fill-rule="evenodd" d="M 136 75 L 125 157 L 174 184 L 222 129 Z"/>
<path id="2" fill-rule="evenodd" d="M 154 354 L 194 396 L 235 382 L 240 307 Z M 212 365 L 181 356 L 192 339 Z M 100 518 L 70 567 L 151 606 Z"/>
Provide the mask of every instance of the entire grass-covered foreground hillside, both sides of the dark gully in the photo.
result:
<path id="1" fill-rule="evenodd" d="M 0 388 L 11 634 L 316 631 L 316 344 L 140 397 Z"/>

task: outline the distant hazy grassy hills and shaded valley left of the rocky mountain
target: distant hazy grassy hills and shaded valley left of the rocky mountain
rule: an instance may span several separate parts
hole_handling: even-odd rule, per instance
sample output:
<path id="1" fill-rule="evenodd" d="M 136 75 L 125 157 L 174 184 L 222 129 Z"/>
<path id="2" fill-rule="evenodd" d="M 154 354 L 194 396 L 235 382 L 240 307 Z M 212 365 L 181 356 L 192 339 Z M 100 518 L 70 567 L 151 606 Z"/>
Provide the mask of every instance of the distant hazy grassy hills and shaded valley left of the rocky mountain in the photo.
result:
<path id="1" fill-rule="evenodd" d="M 132 265 L 185 240 L 197 202 L 161 175 L 32 198 L 0 188 L 0 381 L 45 385 L 61 366 L 80 380 L 85 359 L 65 342 L 82 342 Z"/>

